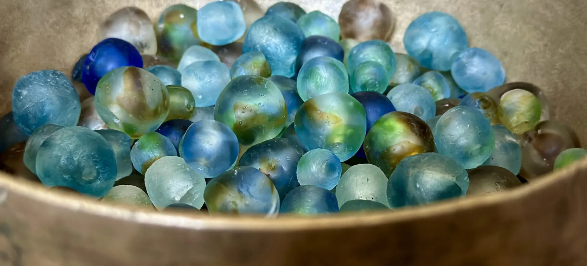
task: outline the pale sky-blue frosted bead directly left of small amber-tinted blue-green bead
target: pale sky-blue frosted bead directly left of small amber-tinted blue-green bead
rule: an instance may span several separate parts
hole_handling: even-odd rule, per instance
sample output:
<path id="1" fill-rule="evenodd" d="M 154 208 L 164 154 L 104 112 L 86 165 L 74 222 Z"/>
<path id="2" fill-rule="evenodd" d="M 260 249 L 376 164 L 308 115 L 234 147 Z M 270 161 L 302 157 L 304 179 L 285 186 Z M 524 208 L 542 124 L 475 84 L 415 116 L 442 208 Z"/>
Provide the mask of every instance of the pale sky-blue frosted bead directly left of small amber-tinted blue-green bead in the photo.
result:
<path id="1" fill-rule="evenodd" d="M 230 80 L 230 70 L 224 63 L 198 61 L 184 69 L 181 86 L 194 95 L 195 107 L 206 107 L 216 103 L 218 95 Z"/>

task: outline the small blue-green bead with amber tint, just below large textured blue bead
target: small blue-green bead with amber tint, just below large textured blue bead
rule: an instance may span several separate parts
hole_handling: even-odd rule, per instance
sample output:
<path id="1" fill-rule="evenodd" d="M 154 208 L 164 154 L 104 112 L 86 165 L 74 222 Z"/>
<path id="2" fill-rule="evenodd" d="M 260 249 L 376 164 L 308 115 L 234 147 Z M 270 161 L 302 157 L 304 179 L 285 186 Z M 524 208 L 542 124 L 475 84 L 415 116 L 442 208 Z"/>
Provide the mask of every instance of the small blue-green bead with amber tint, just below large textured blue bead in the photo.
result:
<path id="1" fill-rule="evenodd" d="M 230 76 L 234 79 L 244 75 L 262 76 L 263 78 L 271 76 L 269 63 L 263 53 L 258 51 L 243 53 L 232 63 Z"/>

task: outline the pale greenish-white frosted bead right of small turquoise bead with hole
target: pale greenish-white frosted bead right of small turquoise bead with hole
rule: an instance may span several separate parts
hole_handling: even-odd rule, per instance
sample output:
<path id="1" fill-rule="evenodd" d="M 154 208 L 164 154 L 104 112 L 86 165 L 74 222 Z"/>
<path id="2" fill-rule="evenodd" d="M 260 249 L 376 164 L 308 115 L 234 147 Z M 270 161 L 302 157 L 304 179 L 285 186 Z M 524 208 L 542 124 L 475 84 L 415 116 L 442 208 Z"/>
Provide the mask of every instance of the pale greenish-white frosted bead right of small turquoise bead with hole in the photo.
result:
<path id="1" fill-rule="evenodd" d="M 373 164 L 351 166 L 336 186 L 338 206 L 350 200 L 372 200 L 389 206 L 386 186 L 387 177 Z"/>

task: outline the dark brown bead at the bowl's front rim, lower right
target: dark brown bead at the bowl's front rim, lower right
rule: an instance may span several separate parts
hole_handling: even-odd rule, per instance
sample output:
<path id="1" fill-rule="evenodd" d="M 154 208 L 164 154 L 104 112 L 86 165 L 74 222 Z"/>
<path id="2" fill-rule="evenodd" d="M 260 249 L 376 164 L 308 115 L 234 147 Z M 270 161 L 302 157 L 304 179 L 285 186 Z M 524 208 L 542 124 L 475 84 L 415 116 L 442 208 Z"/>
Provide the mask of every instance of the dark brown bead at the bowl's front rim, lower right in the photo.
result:
<path id="1" fill-rule="evenodd" d="M 522 186 L 522 182 L 515 174 L 499 166 L 479 166 L 467 170 L 467 173 L 469 176 L 467 196 L 490 194 Z"/>

